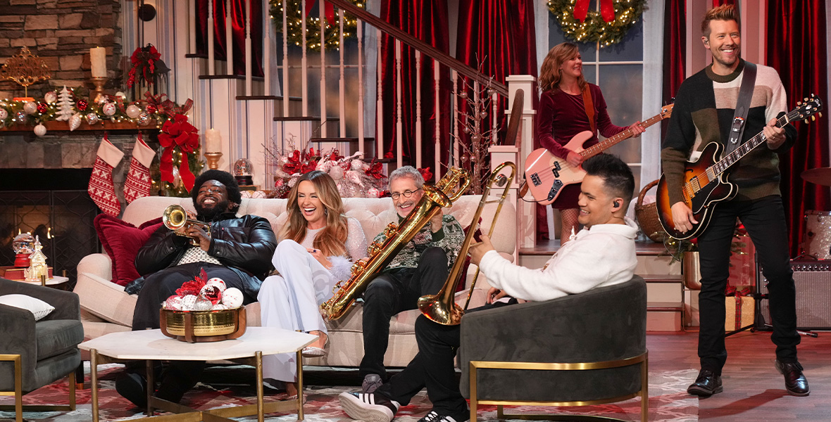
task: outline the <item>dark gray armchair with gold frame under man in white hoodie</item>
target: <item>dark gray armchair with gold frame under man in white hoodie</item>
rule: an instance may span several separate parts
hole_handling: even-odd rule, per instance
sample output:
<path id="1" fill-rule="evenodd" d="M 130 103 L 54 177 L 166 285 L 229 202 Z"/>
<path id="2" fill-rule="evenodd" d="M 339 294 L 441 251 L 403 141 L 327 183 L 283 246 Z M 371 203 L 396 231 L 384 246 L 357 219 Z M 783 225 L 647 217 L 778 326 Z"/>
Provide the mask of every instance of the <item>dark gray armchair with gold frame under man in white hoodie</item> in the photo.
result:
<path id="1" fill-rule="evenodd" d="M 548 302 L 471 312 L 462 319 L 459 361 L 471 422 L 478 404 L 498 405 L 501 420 L 510 416 L 503 405 L 599 405 L 636 396 L 646 421 L 646 282 L 635 276 Z"/>

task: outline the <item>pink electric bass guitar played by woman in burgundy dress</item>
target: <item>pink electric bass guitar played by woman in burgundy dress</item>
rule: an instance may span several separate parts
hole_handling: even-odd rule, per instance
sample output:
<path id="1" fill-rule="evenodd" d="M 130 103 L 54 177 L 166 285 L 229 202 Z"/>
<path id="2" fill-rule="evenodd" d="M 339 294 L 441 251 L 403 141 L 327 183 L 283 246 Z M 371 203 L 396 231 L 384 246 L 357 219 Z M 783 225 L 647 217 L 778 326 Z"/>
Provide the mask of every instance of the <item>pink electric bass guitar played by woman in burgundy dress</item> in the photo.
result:
<path id="1" fill-rule="evenodd" d="M 646 129 L 663 119 L 668 119 L 671 115 L 672 105 L 664 105 L 661 107 L 661 113 L 643 121 L 641 127 Z M 591 130 L 585 130 L 574 135 L 564 147 L 582 155 L 583 159 L 588 159 L 622 140 L 631 138 L 632 135 L 635 134 L 631 129 L 623 130 L 621 133 L 583 150 L 583 144 L 592 139 L 593 136 Z M 574 167 L 572 164 L 568 164 L 566 159 L 554 156 L 545 148 L 532 151 L 525 159 L 525 185 L 528 186 L 538 204 L 548 205 L 553 203 L 564 187 L 582 182 L 585 176 L 586 172 L 583 171 L 582 167 Z"/>

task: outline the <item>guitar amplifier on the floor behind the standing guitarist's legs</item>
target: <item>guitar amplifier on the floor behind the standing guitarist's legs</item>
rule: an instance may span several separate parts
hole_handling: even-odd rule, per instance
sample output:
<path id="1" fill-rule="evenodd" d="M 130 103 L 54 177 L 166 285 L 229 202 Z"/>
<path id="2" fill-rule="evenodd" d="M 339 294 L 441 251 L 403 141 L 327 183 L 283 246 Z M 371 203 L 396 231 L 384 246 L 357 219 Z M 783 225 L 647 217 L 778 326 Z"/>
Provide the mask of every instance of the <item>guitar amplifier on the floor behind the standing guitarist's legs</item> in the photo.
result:
<path id="1" fill-rule="evenodd" d="M 831 330 L 831 260 L 791 261 L 796 284 L 796 326 L 801 330 Z M 767 279 L 762 293 L 767 294 Z M 770 302 L 761 302 L 762 315 L 770 324 Z"/>

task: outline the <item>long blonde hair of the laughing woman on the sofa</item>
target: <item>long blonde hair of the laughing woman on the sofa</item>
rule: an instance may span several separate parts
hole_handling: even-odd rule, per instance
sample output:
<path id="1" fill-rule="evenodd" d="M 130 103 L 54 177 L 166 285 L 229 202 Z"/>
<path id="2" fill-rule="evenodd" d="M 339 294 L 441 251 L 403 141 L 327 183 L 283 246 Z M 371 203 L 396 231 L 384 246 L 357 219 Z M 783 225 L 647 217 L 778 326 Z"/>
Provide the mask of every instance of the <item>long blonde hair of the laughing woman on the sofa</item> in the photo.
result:
<path id="1" fill-rule="evenodd" d="M 286 204 L 288 224 L 280 231 L 280 238 L 292 239 L 297 243 L 306 238 L 306 218 L 303 218 L 300 205 L 297 204 L 297 189 L 299 189 L 300 183 L 305 180 L 312 182 L 314 185 L 317 199 L 320 199 L 326 214 L 326 227 L 320 233 L 317 233 L 317 237 L 312 242 L 312 247 L 320 249 L 323 255 L 327 257 L 346 256 L 349 225 L 347 216 L 343 214 L 341 194 L 337 192 L 337 184 L 335 184 L 332 176 L 319 170 L 313 170 L 300 176 L 300 179 L 297 179 L 297 183 L 294 184 L 292 191 L 288 194 L 288 204 Z"/>

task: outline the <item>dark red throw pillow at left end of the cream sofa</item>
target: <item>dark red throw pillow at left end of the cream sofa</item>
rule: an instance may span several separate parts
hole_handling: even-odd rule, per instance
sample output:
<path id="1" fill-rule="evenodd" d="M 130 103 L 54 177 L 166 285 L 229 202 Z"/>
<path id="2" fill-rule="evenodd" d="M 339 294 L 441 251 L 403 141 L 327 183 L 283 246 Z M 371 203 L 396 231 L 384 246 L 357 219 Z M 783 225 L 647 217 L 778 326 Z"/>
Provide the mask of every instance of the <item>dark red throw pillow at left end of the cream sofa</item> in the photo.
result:
<path id="1" fill-rule="evenodd" d="M 139 227 L 107 214 L 98 214 L 94 220 L 98 238 L 112 260 L 112 282 L 126 286 L 139 277 L 135 269 L 135 255 L 150 235 L 162 225 L 161 217 Z"/>

